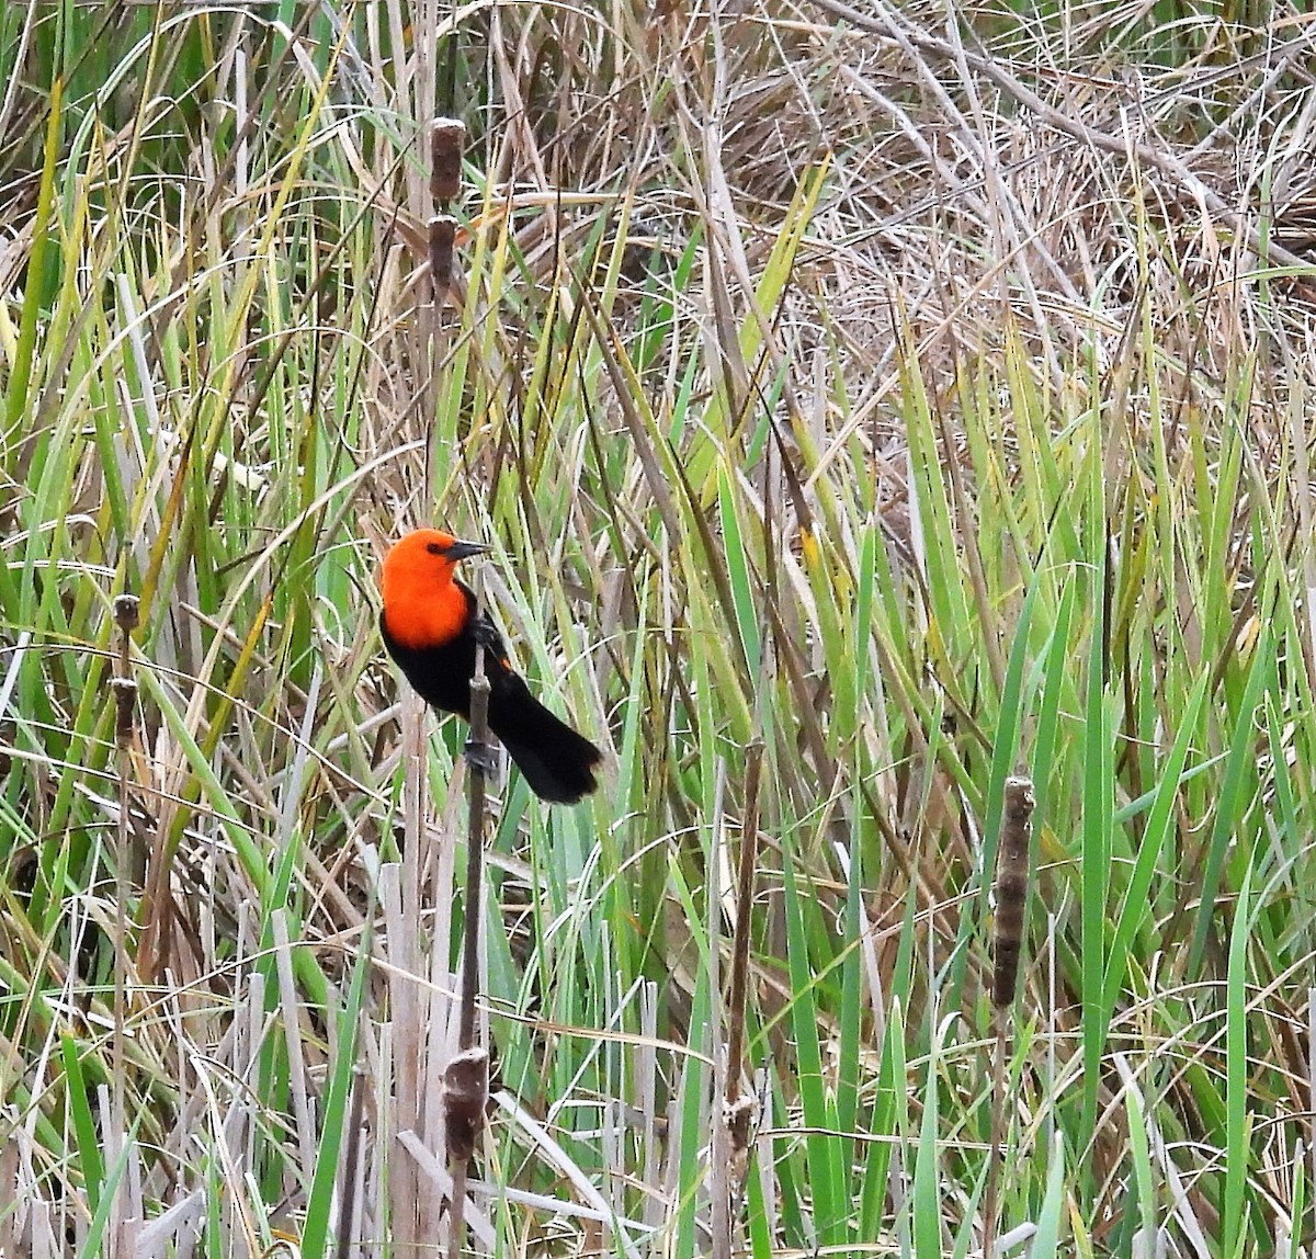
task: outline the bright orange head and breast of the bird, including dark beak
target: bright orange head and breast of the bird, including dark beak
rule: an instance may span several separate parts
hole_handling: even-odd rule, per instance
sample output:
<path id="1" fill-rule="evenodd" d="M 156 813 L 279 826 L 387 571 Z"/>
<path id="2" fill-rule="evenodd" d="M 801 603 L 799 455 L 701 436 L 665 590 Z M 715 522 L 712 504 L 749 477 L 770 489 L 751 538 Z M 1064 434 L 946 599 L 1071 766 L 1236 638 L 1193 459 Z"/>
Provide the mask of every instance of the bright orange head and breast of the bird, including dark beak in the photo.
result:
<path id="1" fill-rule="evenodd" d="M 451 642 L 466 626 L 466 592 L 453 580 L 457 562 L 488 547 L 438 529 L 399 538 L 384 556 L 384 625 L 404 647 L 422 651 Z"/>

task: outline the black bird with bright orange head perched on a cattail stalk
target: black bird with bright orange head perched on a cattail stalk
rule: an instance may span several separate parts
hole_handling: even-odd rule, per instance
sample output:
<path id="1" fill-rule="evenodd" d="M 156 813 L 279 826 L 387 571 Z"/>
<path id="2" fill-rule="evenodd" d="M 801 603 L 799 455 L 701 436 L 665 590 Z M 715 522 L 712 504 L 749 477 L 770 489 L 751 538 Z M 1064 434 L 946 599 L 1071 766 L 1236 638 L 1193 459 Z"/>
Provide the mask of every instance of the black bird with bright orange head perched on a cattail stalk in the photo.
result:
<path id="1" fill-rule="evenodd" d="M 490 729 L 540 799 L 576 804 L 599 785 L 603 753 L 530 693 L 494 622 L 455 576 L 459 560 L 487 550 L 440 529 L 399 538 L 384 556 L 380 583 L 384 647 L 421 699 L 470 721 L 475 646 L 482 643 Z"/>

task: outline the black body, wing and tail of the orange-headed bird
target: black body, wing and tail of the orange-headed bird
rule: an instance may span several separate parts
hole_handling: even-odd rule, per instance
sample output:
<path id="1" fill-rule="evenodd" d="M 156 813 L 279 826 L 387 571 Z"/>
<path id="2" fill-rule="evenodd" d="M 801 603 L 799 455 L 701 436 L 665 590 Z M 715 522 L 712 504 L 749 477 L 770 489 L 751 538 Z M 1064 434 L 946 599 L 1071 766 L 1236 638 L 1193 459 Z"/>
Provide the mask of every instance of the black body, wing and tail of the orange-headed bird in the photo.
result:
<path id="1" fill-rule="evenodd" d="M 404 647 L 390 633 L 384 618 L 379 630 L 388 654 L 416 692 L 443 712 L 470 721 L 471 678 L 475 675 L 475 645 L 484 645 L 484 676 L 490 680 L 490 729 L 542 800 L 575 804 L 596 787 L 595 766 L 603 754 L 583 734 L 554 717 L 513 672 L 507 649 L 494 622 L 475 613 L 475 596 L 457 583 L 470 610 L 466 626 L 441 647 Z"/>

